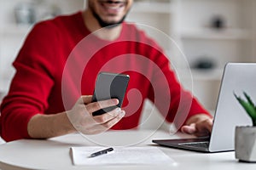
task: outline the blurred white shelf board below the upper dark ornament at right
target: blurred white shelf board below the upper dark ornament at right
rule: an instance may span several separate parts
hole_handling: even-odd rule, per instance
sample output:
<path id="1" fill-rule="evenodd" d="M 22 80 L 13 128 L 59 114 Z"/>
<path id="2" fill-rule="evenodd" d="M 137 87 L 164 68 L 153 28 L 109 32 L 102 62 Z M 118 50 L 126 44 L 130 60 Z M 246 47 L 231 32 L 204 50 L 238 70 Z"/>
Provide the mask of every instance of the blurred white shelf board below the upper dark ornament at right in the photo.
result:
<path id="1" fill-rule="evenodd" d="M 242 29 L 183 29 L 180 33 L 183 39 L 209 39 L 209 40 L 243 40 L 250 39 L 250 31 Z"/>

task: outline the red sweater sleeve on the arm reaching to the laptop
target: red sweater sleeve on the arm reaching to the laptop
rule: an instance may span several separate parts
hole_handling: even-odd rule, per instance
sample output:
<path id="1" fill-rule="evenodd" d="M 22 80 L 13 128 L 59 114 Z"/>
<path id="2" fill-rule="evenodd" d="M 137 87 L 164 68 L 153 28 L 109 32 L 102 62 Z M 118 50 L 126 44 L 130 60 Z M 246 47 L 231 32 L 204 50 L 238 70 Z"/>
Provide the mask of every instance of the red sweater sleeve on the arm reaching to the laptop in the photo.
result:
<path id="1" fill-rule="evenodd" d="M 157 47 L 154 44 L 154 47 Z M 198 99 L 195 98 L 182 84 L 177 81 L 176 72 L 172 70 L 169 59 L 166 58 L 165 54 L 158 50 L 153 50 L 150 54 L 154 54 L 155 62 L 160 66 L 162 73 L 165 77 L 162 77 L 159 72 L 154 73 L 153 81 L 156 82 L 157 93 L 161 96 L 160 101 L 155 103 L 166 121 L 173 122 L 179 129 L 183 124 L 191 117 L 196 114 L 211 114 L 199 103 Z M 166 80 L 165 80 L 166 79 Z M 164 82 L 167 83 L 164 83 Z M 149 93 L 149 99 L 154 101 L 154 95 L 152 95 L 154 89 L 151 89 Z M 162 111 L 162 108 L 166 108 L 166 101 L 170 99 L 169 111 Z"/>

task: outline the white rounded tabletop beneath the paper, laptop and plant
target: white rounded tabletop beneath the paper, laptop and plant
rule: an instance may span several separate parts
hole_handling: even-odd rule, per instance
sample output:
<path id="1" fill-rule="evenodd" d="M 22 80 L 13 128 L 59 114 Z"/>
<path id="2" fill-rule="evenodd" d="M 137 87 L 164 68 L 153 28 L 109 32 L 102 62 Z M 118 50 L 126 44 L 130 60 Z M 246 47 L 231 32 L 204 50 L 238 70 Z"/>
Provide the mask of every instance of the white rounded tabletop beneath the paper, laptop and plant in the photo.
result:
<path id="1" fill-rule="evenodd" d="M 114 140 L 115 145 L 129 144 L 137 139 L 141 140 L 151 135 L 151 131 L 119 131 L 108 132 L 97 136 L 95 139 L 101 139 L 108 143 Z M 189 169 L 189 170 L 207 170 L 207 169 L 225 169 L 225 170 L 254 170 L 256 164 L 242 163 L 235 159 L 235 153 L 223 152 L 214 154 L 202 154 L 186 150 L 175 150 L 166 147 L 160 147 L 152 144 L 152 139 L 179 138 L 181 135 L 169 136 L 168 133 L 158 131 L 149 136 L 148 139 L 141 141 L 137 146 L 152 145 L 159 147 L 167 156 L 172 157 L 176 163 L 174 165 L 162 165 L 154 167 L 152 165 L 140 166 L 104 166 L 104 167 L 76 167 L 73 166 L 70 147 L 96 145 L 88 139 L 84 139 L 80 134 L 69 134 L 49 140 L 21 139 L 0 145 L 0 169 Z M 110 139 L 110 140 L 109 140 Z"/>

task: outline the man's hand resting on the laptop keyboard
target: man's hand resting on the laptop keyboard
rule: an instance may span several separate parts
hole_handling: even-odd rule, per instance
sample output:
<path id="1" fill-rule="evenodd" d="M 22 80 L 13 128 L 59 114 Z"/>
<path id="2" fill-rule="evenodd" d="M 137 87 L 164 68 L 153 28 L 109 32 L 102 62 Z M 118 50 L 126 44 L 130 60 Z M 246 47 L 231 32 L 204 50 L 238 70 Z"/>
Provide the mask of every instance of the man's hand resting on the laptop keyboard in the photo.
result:
<path id="1" fill-rule="evenodd" d="M 191 116 L 181 127 L 181 131 L 195 136 L 207 136 L 212 133 L 212 117 L 205 114 Z"/>

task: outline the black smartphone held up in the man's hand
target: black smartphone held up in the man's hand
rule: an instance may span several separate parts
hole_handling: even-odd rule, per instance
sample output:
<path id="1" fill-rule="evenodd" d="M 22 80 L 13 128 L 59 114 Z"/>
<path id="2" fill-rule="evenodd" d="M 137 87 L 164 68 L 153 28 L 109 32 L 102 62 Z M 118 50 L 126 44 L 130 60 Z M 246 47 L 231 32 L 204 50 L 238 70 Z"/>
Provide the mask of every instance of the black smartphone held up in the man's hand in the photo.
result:
<path id="1" fill-rule="evenodd" d="M 121 107 L 129 80 L 129 75 L 100 72 L 96 79 L 92 102 L 106 99 L 119 99 L 119 104 L 95 111 L 92 115 L 99 116 L 106 112 L 113 111 L 117 107 Z"/>

